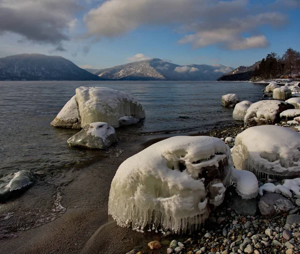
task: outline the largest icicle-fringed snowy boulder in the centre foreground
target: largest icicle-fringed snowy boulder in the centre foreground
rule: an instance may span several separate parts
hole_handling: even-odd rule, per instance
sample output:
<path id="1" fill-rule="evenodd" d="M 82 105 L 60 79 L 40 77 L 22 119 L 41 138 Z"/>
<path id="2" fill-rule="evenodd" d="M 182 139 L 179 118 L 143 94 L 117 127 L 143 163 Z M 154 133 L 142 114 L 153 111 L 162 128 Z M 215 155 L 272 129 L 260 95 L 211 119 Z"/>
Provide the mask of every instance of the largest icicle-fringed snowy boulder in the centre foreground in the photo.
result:
<path id="1" fill-rule="evenodd" d="M 229 147 L 210 136 L 174 136 L 126 159 L 111 182 L 108 213 L 120 226 L 183 232 L 218 205 L 230 180 Z"/>

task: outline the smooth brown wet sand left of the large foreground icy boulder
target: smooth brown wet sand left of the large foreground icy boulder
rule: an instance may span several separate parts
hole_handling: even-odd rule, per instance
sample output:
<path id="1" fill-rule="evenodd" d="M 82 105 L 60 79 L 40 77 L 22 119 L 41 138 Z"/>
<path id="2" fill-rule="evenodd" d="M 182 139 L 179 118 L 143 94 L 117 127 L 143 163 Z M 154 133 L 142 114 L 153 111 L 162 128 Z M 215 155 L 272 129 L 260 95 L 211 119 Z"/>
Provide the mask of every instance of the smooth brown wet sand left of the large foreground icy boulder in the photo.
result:
<path id="1" fill-rule="evenodd" d="M 225 137 L 233 136 L 240 127 L 213 129 L 205 134 L 221 137 L 225 129 Z M 114 148 L 123 151 L 118 157 L 99 157 L 99 161 L 80 170 L 40 180 L 9 205 L 1 204 L 0 214 L 13 213 L 9 218 L 0 217 L 0 253 L 126 253 L 135 246 L 145 248 L 148 241 L 159 239 L 160 234 L 155 232 L 140 233 L 117 226 L 107 214 L 107 202 L 110 183 L 119 164 L 168 136 L 121 136 Z M 61 200 L 57 199 L 58 194 Z M 56 210 L 51 213 L 53 204 Z M 37 226 L 37 220 L 50 222 Z M 22 223 L 23 228 L 36 227 L 19 230 Z"/>

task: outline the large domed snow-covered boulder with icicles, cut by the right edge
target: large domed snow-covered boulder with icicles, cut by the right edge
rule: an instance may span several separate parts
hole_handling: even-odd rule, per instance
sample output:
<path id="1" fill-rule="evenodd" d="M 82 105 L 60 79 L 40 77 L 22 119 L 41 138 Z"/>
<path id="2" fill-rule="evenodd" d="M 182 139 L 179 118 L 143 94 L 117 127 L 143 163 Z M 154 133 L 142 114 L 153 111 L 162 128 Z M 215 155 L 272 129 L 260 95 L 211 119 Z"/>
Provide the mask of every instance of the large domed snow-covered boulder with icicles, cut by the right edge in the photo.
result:
<path id="1" fill-rule="evenodd" d="M 289 128 L 261 125 L 247 128 L 231 149 L 236 169 L 258 178 L 293 178 L 300 173 L 300 135 Z"/>

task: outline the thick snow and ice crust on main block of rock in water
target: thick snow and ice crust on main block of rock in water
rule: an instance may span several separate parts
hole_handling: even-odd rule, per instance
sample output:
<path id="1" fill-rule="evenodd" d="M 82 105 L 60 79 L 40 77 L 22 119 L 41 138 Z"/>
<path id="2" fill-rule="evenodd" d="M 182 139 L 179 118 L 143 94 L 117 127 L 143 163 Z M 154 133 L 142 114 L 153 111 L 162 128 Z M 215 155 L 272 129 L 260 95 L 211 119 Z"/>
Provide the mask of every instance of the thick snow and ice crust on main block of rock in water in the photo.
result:
<path id="1" fill-rule="evenodd" d="M 107 122 L 112 127 L 119 126 L 119 118 L 133 116 L 144 118 L 144 110 L 130 93 L 106 87 L 76 88 L 81 127 L 91 122 Z"/>

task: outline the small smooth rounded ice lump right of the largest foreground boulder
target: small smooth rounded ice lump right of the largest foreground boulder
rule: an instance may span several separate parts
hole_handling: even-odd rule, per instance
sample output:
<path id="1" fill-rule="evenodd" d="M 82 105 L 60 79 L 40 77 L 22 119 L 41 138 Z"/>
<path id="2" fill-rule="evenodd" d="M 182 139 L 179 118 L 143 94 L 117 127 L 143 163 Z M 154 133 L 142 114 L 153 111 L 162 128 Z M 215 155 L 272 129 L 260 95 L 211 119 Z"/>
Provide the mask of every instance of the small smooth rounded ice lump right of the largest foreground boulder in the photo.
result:
<path id="1" fill-rule="evenodd" d="M 232 167 L 231 182 L 236 183 L 236 192 L 243 199 L 256 197 L 258 194 L 258 181 L 256 176 L 247 170 L 238 170 Z"/>

